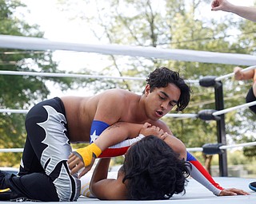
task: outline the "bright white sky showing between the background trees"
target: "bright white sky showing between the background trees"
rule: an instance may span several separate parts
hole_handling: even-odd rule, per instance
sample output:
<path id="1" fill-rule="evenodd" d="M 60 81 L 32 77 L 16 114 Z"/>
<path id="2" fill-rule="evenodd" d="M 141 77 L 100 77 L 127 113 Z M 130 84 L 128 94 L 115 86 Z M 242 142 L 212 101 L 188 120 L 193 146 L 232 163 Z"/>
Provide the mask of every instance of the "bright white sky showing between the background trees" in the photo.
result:
<path id="1" fill-rule="evenodd" d="M 58 10 L 57 1 L 58 0 L 22 0 L 22 2 L 27 5 L 27 9 L 30 10 L 30 13 L 26 12 L 26 14 L 24 14 L 24 18 L 30 24 L 38 24 L 40 29 L 45 33 L 44 37 L 51 41 L 99 44 L 100 42 L 90 34 L 90 28 L 81 26 L 79 21 L 69 20 L 66 18 L 65 13 Z M 230 0 L 230 2 L 235 5 L 253 6 L 254 1 Z M 88 5 L 83 6 L 85 12 L 90 13 L 91 10 L 93 10 L 93 8 L 90 8 Z M 225 15 L 234 15 L 234 18 L 238 18 L 235 14 L 222 11 L 214 12 L 210 9 L 209 4 L 200 11 L 205 19 L 222 18 Z M 75 12 L 75 5 L 72 6 L 72 11 L 70 12 Z M 90 59 L 90 61 L 88 59 Z M 79 71 L 86 66 L 102 69 L 106 65 L 106 61 L 99 61 L 98 54 L 96 53 L 55 51 L 54 61 L 58 61 L 59 69 L 73 72 Z M 63 95 L 67 94 L 67 92 L 56 91 L 53 94 Z M 70 92 L 68 92 L 68 94 L 70 94 Z M 74 94 L 80 95 L 78 92 L 74 92 Z"/>

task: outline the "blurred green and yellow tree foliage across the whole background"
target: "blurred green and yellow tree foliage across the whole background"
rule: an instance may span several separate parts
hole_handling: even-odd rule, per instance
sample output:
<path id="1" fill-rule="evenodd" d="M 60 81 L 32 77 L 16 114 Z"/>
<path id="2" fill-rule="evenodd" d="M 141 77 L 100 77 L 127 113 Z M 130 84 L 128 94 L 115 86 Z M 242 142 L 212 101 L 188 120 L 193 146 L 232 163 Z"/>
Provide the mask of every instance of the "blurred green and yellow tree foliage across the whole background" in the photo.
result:
<path id="1" fill-rule="evenodd" d="M 79 10 L 79 8 L 84 8 L 80 6 L 75 7 L 75 14 L 80 18 L 81 24 L 84 22 L 85 26 L 90 25 L 95 37 L 103 44 L 141 45 L 222 53 L 252 54 L 255 52 L 256 24 L 243 20 L 234 22 L 231 16 L 220 22 L 214 19 L 206 22 L 200 16 L 199 11 L 201 6 L 205 6 L 206 3 L 210 4 L 210 1 L 77 0 L 59 2 L 63 10 L 74 10 L 74 6 L 82 4 L 94 4 L 95 12 L 86 13 L 83 9 Z M 26 22 L 15 17 L 14 11 L 18 6 L 22 6 L 19 1 L 0 0 L 0 33 L 42 37 L 43 33 L 38 30 L 38 26 L 27 25 Z M 72 18 L 75 14 L 71 12 Z M 76 20 L 79 19 L 76 18 Z M 234 30 L 241 34 L 233 35 L 230 31 Z M 16 53 L 6 54 L 6 51 Z M 110 56 L 106 58 L 110 63 L 102 70 L 101 75 L 145 77 L 156 67 L 166 66 L 180 72 L 186 79 L 198 80 L 205 76 L 218 77 L 232 73 L 234 68 L 233 65 L 167 61 L 143 57 Z M 52 61 L 50 52 L 21 52 L 6 49 L 0 50 L 0 69 L 60 73 L 58 65 Z M 88 70 L 83 70 L 82 73 L 98 74 L 96 71 Z M 13 80 L 15 83 L 12 82 Z M 46 98 L 50 92 L 46 87 L 47 80 L 60 84 L 63 89 L 70 88 L 74 82 L 69 78 L 0 76 L 0 107 L 28 108 L 30 104 L 34 104 L 35 100 Z M 100 92 L 106 88 L 126 88 L 134 92 L 142 92 L 145 84 L 141 81 L 130 80 L 89 79 L 76 80 L 76 84 L 73 85 L 85 87 L 94 92 Z M 196 84 L 190 84 L 190 86 L 193 94 L 190 105 L 184 113 L 198 113 L 202 109 L 215 108 L 214 88 L 202 88 Z M 245 103 L 246 92 L 251 86 L 251 81 L 225 80 L 223 86 L 225 108 L 230 108 Z M 11 130 L 16 128 L 17 130 L 14 130 L 17 131 L 21 140 L 25 139 L 24 130 L 21 127 L 12 127 L 14 120 L 22 121 L 24 116 L 12 115 L 11 119 L 6 116 L 0 117 L 0 131 L 3 132 L 1 134 L 5 138 L 7 135 L 14 134 Z M 230 141 L 242 143 L 251 139 L 255 134 L 255 116 L 249 109 L 227 113 L 225 119 L 226 134 Z M 202 147 L 204 143 L 217 142 L 215 121 L 175 120 L 173 118 L 163 120 L 170 126 L 174 135 L 186 143 L 186 147 Z M 9 127 L 8 130 L 4 126 Z M 22 147 L 22 143 L 19 143 L 18 147 Z M 248 155 L 252 154 L 248 153 Z"/>

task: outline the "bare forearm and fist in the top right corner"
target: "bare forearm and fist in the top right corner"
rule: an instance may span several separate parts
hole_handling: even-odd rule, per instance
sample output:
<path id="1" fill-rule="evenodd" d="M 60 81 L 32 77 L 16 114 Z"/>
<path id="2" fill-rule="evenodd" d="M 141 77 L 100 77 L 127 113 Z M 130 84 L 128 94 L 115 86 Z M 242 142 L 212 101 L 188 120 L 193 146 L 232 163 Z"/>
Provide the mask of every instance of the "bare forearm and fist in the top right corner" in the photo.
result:
<path id="1" fill-rule="evenodd" d="M 214 0 L 211 4 L 212 10 L 223 10 L 232 12 L 246 18 L 250 21 L 256 22 L 256 8 L 248 6 L 236 6 L 226 0 Z"/>

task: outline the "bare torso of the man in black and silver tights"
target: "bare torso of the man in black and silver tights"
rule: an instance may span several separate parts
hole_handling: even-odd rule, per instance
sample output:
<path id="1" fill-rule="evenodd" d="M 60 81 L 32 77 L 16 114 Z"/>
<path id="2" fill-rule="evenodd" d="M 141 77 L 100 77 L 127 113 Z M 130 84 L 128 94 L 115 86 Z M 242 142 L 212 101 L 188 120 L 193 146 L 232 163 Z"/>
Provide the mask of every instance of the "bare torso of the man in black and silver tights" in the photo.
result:
<path id="1" fill-rule="evenodd" d="M 66 119 L 71 143 L 86 143 L 90 140 L 93 120 L 106 124 L 119 121 L 144 124 L 145 115 L 141 96 L 122 89 L 110 89 L 95 96 L 64 96 L 61 98 L 66 110 Z"/>

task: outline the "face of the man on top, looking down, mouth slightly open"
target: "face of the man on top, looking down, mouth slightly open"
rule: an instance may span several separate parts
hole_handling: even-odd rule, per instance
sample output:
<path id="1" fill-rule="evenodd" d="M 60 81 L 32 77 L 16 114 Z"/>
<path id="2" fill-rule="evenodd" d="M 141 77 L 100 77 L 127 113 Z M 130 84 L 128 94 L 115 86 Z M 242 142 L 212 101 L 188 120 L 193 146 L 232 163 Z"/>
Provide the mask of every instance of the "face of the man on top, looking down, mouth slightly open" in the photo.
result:
<path id="1" fill-rule="evenodd" d="M 150 92 L 150 85 L 147 84 L 145 95 L 147 116 L 151 120 L 158 120 L 174 108 L 181 91 L 175 84 L 168 84 L 163 88 L 154 88 L 153 92 Z"/>

